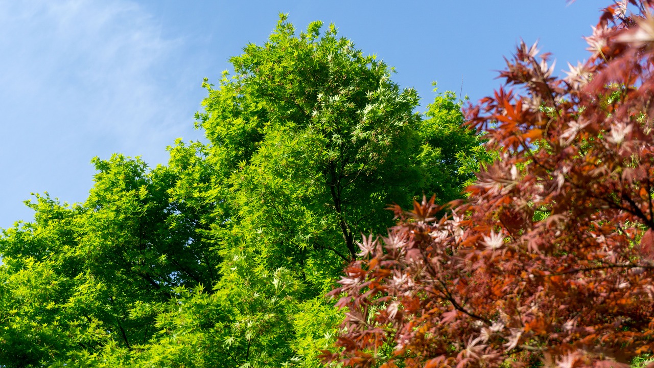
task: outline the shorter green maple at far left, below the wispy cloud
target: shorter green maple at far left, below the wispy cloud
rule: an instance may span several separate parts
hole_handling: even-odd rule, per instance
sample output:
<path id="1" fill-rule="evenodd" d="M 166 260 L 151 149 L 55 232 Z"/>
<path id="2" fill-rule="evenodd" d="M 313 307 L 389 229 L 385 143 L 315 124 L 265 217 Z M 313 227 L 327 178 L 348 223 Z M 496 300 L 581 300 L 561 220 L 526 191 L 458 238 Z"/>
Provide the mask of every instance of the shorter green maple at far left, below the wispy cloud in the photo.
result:
<path id="1" fill-rule="evenodd" d="M 154 170 L 121 155 L 96 158 L 84 204 L 37 195 L 28 203 L 35 221 L 3 230 L 0 349 L 9 349 L 1 354 L 7 366 L 43 365 L 108 340 L 128 349 L 144 344 L 156 332 L 156 307 L 174 287 L 218 281 L 220 257 L 202 236 L 213 210 L 171 190 L 181 162 L 192 161 L 171 156 Z M 150 313 L 135 318 L 144 304 Z"/>

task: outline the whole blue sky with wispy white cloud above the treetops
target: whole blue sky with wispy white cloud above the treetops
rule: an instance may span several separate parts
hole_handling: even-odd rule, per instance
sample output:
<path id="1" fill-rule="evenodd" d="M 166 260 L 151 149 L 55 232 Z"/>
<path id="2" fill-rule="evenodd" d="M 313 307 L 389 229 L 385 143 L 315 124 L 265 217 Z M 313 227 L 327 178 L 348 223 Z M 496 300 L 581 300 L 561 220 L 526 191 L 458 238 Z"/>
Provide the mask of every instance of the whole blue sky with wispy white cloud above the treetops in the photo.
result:
<path id="1" fill-rule="evenodd" d="M 93 156 L 165 163 L 178 137 L 199 139 L 203 77 L 216 81 L 247 43 L 263 43 L 279 12 L 297 28 L 333 22 L 366 54 L 396 67 L 426 105 L 441 90 L 492 93 L 522 37 L 540 39 L 557 71 L 587 57 L 610 1 L 0 0 L 0 227 L 32 214 L 31 192 L 83 201 Z"/>

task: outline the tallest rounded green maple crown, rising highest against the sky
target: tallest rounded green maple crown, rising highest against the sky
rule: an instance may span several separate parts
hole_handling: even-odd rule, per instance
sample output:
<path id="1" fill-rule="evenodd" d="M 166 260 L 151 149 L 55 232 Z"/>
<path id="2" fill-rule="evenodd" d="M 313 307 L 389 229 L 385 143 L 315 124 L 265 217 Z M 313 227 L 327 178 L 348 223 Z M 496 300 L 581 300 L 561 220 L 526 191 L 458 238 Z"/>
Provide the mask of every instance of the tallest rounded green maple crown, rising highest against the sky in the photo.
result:
<path id="1" fill-rule="evenodd" d="M 321 27 L 296 35 L 281 16 L 267 43 L 232 58 L 235 75 L 205 83 L 198 115 L 214 200 L 231 205 L 216 216 L 220 247 L 253 248 L 258 262 L 318 286 L 314 295 L 356 259 L 362 232 L 392 225 L 388 204 L 460 198 L 470 175 L 459 162 L 479 146 L 453 94 L 423 120 L 415 90 L 393 83 L 391 68 Z"/>

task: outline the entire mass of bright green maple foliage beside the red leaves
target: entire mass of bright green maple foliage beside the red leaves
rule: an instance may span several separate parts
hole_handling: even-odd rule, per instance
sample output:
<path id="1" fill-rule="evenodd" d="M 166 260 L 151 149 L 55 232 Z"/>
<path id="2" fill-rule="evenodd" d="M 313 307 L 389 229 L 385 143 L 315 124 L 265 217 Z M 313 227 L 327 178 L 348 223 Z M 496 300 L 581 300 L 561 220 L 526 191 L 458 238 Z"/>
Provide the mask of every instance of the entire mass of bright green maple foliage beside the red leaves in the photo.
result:
<path id="1" fill-rule="evenodd" d="M 343 314 L 322 295 L 389 204 L 460 198 L 490 156 L 439 94 L 415 90 L 314 22 L 281 16 L 262 46 L 205 81 L 209 143 L 166 166 L 94 158 L 82 204 L 47 194 L 3 230 L 7 367 L 320 367 Z"/>

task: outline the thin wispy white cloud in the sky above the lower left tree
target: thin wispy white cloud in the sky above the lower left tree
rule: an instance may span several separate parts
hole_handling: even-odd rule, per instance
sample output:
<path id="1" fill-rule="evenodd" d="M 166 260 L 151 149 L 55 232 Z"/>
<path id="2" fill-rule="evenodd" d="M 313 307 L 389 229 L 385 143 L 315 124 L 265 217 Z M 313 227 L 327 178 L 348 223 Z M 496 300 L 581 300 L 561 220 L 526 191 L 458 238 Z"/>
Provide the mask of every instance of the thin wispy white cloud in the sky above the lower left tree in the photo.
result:
<path id="1" fill-rule="evenodd" d="M 92 156 L 164 162 L 173 138 L 198 136 L 184 39 L 161 35 L 130 1 L 0 1 L 0 227 L 29 191 L 83 200 Z"/>

